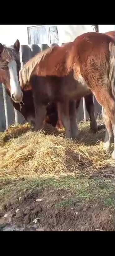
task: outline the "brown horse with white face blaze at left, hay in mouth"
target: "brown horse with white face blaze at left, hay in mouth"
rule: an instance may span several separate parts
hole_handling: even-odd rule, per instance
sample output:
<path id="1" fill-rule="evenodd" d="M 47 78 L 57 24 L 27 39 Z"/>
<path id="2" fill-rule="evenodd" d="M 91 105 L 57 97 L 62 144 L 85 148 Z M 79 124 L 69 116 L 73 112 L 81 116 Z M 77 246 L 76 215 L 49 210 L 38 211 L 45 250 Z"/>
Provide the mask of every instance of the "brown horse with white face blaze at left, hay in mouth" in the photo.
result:
<path id="1" fill-rule="evenodd" d="M 19 71 L 21 68 L 19 50 L 19 40 L 16 40 L 12 47 L 0 44 L 0 82 L 5 85 L 7 94 L 11 96 L 10 100 L 13 107 L 24 116 L 26 121 L 33 125 L 35 107 L 32 90 L 23 91 L 19 86 Z M 23 104 L 20 105 L 18 102 L 21 101 Z M 57 106 L 55 103 L 50 103 L 47 107 L 46 122 L 56 126 L 57 121 Z"/>

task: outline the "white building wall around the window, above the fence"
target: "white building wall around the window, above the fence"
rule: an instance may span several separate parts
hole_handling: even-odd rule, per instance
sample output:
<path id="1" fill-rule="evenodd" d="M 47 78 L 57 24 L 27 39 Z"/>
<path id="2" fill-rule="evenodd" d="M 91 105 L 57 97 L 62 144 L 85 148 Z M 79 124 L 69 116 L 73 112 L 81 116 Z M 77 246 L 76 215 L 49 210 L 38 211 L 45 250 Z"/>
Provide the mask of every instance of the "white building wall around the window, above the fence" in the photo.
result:
<path id="1" fill-rule="evenodd" d="M 0 42 L 13 45 L 19 39 L 21 45 L 28 44 L 27 27 L 37 25 L 0 25 Z M 59 34 L 59 45 L 73 41 L 77 36 L 93 31 L 91 25 L 57 25 Z M 99 32 L 105 33 L 115 30 L 115 25 L 99 25 Z"/>

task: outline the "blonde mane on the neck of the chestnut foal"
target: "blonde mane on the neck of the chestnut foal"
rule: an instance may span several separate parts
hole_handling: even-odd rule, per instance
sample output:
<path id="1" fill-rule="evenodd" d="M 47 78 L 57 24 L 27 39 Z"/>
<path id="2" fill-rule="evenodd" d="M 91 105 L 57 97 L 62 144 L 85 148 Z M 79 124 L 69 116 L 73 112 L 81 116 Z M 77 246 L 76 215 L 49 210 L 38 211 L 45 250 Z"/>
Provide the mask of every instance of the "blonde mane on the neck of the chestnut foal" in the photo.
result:
<path id="1" fill-rule="evenodd" d="M 35 66 L 37 64 L 40 63 L 41 60 L 44 60 L 44 58 L 50 54 L 53 49 L 55 48 L 56 46 L 53 46 L 53 47 L 50 47 L 40 53 L 38 53 L 37 55 L 35 55 L 32 59 L 30 59 L 25 65 L 24 67 L 20 70 L 19 72 L 19 76 L 20 76 L 20 86 L 21 88 L 27 86 L 27 84 L 29 83 L 30 81 L 30 76 L 31 76 L 31 73 L 33 72 Z"/>

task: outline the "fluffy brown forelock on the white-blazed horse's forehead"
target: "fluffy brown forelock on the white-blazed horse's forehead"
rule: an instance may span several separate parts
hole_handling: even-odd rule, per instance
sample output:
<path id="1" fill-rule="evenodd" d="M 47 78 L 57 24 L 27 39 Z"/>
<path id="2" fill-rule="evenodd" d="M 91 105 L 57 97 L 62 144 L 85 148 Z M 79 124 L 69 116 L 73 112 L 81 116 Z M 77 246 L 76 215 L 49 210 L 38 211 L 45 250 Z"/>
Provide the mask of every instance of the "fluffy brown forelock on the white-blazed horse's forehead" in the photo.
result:
<path id="1" fill-rule="evenodd" d="M 3 50 L 0 56 L 0 69 L 5 69 L 7 64 L 16 58 L 16 55 L 14 47 L 3 45 Z"/>

